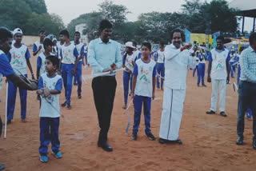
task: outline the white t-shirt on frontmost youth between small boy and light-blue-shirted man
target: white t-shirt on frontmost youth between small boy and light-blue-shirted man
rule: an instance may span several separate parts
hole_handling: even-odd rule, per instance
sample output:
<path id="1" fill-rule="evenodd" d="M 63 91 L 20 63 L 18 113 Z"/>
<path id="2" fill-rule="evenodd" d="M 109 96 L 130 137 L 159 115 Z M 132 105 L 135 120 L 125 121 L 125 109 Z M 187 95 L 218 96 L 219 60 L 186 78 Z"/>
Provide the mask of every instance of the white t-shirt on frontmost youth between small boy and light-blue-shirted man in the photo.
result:
<path id="1" fill-rule="evenodd" d="M 66 44 L 62 45 L 61 54 L 63 64 L 74 64 L 75 59 L 78 57 L 78 50 L 73 43 L 70 43 L 69 46 Z"/>

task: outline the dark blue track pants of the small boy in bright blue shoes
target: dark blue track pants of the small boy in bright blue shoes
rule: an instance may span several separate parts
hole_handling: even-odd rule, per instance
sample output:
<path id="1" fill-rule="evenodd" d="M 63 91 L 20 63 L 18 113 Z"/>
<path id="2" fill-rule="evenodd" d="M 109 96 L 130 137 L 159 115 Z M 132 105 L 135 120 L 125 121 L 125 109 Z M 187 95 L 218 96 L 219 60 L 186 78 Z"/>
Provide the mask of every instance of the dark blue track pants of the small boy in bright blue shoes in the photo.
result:
<path id="1" fill-rule="evenodd" d="M 40 117 L 40 147 L 39 153 L 46 156 L 48 146 L 51 142 L 51 149 L 57 153 L 60 147 L 58 139 L 59 117 Z"/>

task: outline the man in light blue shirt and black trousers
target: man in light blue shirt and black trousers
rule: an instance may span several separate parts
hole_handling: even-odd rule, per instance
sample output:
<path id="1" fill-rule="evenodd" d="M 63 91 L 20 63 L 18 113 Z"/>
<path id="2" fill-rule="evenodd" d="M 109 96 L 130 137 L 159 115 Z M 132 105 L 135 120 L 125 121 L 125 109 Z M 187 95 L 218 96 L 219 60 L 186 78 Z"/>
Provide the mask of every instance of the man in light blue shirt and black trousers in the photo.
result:
<path id="1" fill-rule="evenodd" d="M 112 147 L 107 143 L 107 133 L 110 128 L 110 119 L 114 103 L 117 82 L 113 70 L 122 67 L 122 57 L 118 42 L 110 39 L 112 24 L 108 20 L 102 20 L 99 24 L 100 38 L 90 42 L 88 48 L 88 62 L 93 68 L 93 74 L 110 72 L 102 77 L 93 79 L 92 89 L 94 103 L 98 113 L 100 132 L 98 135 L 98 147 L 110 152 Z"/>

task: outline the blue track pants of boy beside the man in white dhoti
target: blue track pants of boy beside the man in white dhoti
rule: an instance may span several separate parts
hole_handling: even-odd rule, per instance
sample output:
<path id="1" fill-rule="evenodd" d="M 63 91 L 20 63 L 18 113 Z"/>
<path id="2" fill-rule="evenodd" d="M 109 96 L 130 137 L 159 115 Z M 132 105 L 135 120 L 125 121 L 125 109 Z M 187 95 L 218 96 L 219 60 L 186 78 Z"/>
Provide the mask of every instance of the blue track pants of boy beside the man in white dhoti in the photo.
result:
<path id="1" fill-rule="evenodd" d="M 138 133 L 138 126 L 141 121 L 142 105 L 144 110 L 145 133 L 151 133 L 150 129 L 150 110 L 151 97 L 134 96 L 134 129 L 133 133 Z"/>

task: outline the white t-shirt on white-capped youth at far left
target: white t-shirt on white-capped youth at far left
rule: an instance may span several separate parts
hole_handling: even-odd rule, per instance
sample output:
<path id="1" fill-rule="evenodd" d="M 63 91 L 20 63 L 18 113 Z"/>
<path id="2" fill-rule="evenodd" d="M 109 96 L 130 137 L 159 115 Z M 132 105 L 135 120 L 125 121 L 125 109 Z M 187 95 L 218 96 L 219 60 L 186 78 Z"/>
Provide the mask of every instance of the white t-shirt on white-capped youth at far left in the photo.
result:
<path id="1" fill-rule="evenodd" d="M 12 45 L 8 56 L 10 58 L 10 66 L 14 69 L 15 74 L 27 74 L 26 58 L 30 58 L 30 52 L 25 45 L 22 44 L 18 48 Z"/>

